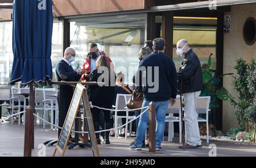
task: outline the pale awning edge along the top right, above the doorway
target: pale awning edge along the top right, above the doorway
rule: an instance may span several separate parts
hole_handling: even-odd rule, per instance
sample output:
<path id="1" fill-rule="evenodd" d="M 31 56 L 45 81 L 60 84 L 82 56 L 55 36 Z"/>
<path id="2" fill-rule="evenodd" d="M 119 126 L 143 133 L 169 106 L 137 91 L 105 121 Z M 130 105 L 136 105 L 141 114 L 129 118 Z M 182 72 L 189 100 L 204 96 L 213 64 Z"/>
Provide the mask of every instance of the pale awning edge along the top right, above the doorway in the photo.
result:
<path id="1" fill-rule="evenodd" d="M 177 10 L 192 10 L 192 9 L 205 9 L 213 7 L 215 1 L 201 1 L 201 2 L 189 2 L 189 3 L 178 3 L 175 5 L 164 5 L 164 6 L 153 6 L 150 8 L 151 12 L 158 11 L 177 11 Z M 216 0 L 216 7 L 242 5 L 248 3 L 256 3 L 256 0 Z"/>

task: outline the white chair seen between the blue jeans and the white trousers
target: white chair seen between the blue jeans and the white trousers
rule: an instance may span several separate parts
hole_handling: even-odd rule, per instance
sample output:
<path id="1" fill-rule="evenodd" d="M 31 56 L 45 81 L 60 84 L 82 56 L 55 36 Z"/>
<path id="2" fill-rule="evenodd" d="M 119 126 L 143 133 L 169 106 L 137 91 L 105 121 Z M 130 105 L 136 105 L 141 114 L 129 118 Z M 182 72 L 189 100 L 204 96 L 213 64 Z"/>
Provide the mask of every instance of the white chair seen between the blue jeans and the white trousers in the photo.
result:
<path id="1" fill-rule="evenodd" d="M 180 96 L 177 96 L 176 103 L 171 106 L 169 103 L 168 109 L 166 111 L 166 122 L 168 122 L 168 142 L 172 142 L 174 137 L 174 122 L 179 123 L 179 142 L 181 143 L 182 127 L 181 127 L 181 111 L 180 111 Z M 179 116 L 174 116 L 178 114 Z"/>

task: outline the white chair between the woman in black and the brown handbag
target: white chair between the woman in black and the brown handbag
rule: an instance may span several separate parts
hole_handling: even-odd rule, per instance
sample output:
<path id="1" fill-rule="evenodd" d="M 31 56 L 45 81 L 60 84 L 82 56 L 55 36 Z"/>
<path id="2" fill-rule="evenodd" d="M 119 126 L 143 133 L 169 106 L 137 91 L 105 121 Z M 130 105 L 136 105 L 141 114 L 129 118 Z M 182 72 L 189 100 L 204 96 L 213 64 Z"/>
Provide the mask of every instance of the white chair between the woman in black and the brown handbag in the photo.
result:
<path id="1" fill-rule="evenodd" d="M 126 104 L 130 100 L 131 95 L 130 94 L 117 94 L 117 100 L 115 101 L 115 110 L 123 110 L 126 111 L 126 116 L 120 116 L 118 115 L 118 112 L 115 112 L 115 127 L 118 127 L 118 119 L 125 118 L 126 123 L 128 120 L 134 119 L 135 116 L 129 116 L 129 111 L 127 111 Z M 131 123 L 130 123 L 130 131 L 129 135 L 131 136 Z M 128 130 L 128 124 L 125 126 L 125 140 L 127 140 L 127 130 Z M 115 138 L 117 138 L 117 129 L 115 129 Z"/>

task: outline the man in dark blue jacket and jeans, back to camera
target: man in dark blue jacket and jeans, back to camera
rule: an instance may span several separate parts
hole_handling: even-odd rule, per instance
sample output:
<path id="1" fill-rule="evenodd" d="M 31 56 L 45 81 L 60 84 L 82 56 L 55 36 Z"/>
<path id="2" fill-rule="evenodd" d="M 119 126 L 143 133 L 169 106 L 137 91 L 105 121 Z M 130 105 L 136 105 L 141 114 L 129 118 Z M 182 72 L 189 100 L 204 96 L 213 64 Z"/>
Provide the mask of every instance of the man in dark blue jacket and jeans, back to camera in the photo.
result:
<path id="1" fill-rule="evenodd" d="M 153 41 L 154 52 L 139 64 L 135 84 L 143 87 L 144 101 L 142 107 L 151 102 L 156 107 L 156 150 L 161 150 L 164 137 L 166 110 L 169 102 L 174 105 L 177 95 L 177 73 L 174 62 L 164 54 L 165 40 Z M 142 110 L 143 112 L 143 110 Z M 130 150 L 141 150 L 148 123 L 148 110 L 140 117 L 137 140 Z"/>

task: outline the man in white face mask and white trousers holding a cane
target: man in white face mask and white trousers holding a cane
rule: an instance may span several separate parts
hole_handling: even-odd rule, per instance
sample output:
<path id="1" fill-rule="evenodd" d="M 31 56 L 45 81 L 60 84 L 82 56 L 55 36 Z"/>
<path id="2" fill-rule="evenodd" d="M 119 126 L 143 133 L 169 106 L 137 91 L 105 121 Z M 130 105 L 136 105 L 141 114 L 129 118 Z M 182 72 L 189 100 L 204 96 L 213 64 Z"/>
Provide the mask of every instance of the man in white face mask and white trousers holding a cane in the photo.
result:
<path id="1" fill-rule="evenodd" d="M 177 73 L 179 83 L 182 82 L 181 93 L 185 101 L 185 132 L 187 133 L 187 144 L 185 148 L 200 148 L 199 124 L 196 112 L 196 99 L 199 98 L 203 89 L 203 73 L 199 58 L 189 47 L 187 40 L 177 43 L 177 54 L 183 58 L 179 72 Z M 179 146 L 183 148 L 183 146 Z"/>

